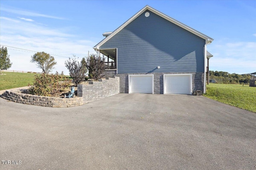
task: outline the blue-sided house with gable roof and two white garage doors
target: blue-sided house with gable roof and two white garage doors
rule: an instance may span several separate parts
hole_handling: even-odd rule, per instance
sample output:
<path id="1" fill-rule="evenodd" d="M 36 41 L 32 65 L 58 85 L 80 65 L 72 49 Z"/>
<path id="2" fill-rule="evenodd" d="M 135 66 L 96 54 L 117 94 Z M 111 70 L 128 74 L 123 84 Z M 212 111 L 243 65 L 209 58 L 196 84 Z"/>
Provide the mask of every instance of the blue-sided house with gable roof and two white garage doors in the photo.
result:
<path id="1" fill-rule="evenodd" d="M 103 35 L 94 49 L 108 57 L 108 73 L 120 77 L 120 93 L 205 92 L 211 37 L 150 6 Z"/>

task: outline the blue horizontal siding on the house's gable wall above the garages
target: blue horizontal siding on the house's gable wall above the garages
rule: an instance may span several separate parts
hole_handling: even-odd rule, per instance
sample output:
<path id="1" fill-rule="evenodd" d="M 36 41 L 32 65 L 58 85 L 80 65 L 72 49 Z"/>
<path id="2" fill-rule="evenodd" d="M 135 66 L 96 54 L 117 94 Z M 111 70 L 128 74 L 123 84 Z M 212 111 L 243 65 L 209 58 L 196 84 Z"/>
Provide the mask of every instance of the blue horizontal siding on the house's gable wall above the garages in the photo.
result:
<path id="1" fill-rule="evenodd" d="M 100 49 L 118 49 L 118 74 L 204 72 L 204 44 L 204 39 L 147 10 Z"/>

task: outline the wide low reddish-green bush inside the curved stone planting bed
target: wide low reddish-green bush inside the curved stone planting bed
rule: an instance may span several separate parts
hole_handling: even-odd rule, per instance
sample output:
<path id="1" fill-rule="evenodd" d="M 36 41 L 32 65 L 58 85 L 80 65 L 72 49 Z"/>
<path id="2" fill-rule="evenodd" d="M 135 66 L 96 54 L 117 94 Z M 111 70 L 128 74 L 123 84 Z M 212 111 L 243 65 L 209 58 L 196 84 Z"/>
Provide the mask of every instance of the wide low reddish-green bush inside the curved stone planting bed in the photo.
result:
<path id="1" fill-rule="evenodd" d="M 62 74 L 40 74 L 35 75 L 34 86 L 29 88 L 29 93 L 38 96 L 55 97 L 61 92 L 69 89 L 71 80 Z"/>

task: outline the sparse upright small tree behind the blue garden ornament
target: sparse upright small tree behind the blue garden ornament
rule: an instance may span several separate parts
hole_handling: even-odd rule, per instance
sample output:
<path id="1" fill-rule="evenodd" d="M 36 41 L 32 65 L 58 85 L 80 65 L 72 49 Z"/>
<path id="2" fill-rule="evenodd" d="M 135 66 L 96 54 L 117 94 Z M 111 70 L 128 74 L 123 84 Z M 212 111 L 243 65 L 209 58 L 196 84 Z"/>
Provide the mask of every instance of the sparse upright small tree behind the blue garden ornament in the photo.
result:
<path id="1" fill-rule="evenodd" d="M 75 57 L 75 56 L 74 56 Z M 73 82 L 76 86 L 86 79 L 86 61 L 82 58 L 82 61 L 79 63 L 76 59 L 68 59 L 65 61 L 65 66 L 69 70 L 69 75 L 73 78 Z"/>

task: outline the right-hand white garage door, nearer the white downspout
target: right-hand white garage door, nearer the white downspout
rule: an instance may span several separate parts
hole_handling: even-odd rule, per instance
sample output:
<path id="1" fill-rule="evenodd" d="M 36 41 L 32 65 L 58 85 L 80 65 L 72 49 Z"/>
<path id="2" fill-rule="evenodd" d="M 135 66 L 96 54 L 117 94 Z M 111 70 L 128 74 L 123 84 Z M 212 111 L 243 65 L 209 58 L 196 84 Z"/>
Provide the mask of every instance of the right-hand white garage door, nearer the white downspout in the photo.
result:
<path id="1" fill-rule="evenodd" d="M 164 94 L 191 94 L 191 74 L 165 74 Z"/>

